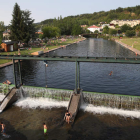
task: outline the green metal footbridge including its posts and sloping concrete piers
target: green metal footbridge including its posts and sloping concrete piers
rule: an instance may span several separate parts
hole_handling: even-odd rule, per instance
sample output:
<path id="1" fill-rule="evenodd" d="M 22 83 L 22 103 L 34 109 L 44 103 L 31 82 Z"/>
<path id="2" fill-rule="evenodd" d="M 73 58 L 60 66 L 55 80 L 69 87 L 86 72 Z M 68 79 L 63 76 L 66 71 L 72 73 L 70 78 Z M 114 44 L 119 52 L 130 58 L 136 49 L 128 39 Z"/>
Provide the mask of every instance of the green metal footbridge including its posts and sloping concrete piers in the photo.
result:
<path id="1" fill-rule="evenodd" d="M 15 88 L 18 87 L 16 83 L 16 74 L 15 74 L 15 60 L 18 60 L 19 65 L 19 75 L 20 75 L 20 85 L 22 85 L 22 75 L 20 63 L 21 60 L 36 60 L 36 61 L 66 61 L 66 62 L 75 62 L 75 93 L 71 95 L 68 110 L 72 114 L 72 121 L 76 117 L 77 111 L 80 106 L 80 62 L 92 62 L 92 63 L 122 63 L 122 64 L 140 64 L 140 58 L 114 58 L 114 57 L 73 57 L 73 56 L 52 56 L 41 55 L 41 56 L 33 56 L 33 55 L 0 55 L 0 59 L 11 59 L 13 60 L 13 72 L 14 72 L 14 83 Z M 20 86 L 19 85 L 19 86 Z M 79 92 L 80 91 L 80 92 Z M 4 108 L 8 105 L 10 101 L 10 97 L 14 95 L 15 90 L 11 91 L 9 95 L 7 95 L 0 106 L 0 110 L 4 110 Z M 11 96 L 10 96 L 11 95 Z M 9 99 L 8 99 L 9 98 Z M 7 104 L 7 105 L 6 105 Z"/>

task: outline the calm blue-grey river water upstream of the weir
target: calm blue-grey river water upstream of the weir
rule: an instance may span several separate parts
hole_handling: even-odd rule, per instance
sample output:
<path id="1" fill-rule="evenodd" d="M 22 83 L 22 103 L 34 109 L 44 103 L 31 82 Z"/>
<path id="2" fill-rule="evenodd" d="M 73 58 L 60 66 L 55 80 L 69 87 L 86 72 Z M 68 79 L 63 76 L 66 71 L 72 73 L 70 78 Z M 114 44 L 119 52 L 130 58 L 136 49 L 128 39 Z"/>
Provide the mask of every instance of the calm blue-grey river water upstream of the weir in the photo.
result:
<path id="1" fill-rule="evenodd" d="M 49 53 L 50 56 L 139 57 L 113 41 L 87 39 L 78 44 Z M 25 85 L 63 89 L 75 88 L 74 62 L 23 61 Z M 113 74 L 109 76 L 110 71 Z M 80 85 L 83 90 L 105 93 L 140 95 L 140 65 L 80 63 Z M 0 69 L 0 82 L 13 79 L 13 67 Z"/>

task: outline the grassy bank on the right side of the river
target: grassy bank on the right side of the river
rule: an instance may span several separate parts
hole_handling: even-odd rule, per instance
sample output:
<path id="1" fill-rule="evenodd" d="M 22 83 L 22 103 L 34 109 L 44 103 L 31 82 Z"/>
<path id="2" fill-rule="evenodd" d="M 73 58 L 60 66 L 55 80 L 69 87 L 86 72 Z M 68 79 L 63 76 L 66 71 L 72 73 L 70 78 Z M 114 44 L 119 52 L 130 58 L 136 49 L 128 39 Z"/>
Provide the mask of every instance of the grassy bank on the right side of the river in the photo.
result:
<path id="1" fill-rule="evenodd" d="M 120 45 L 122 45 L 123 47 L 125 47 L 125 48 L 127 48 L 127 49 L 129 49 L 129 50 L 131 50 L 131 51 L 133 51 L 135 54 L 136 54 L 136 56 L 137 55 L 140 55 L 140 50 L 138 50 L 139 49 L 139 47 L 137 47 L 137 46 L 140 46 L 140 42 L 137 42 L 136 41 L 136 38 L 129 38 L 129 39 L 112 39 L 112 40 L 114 40 L 116 43 L 118 43 L 118 44 L 120 44 Z M 130 41 L 129 41 L 130 40 Z M 137 39 L 138 40 L 138 39 Z M 133 43 L 132 43 L 133 42 Z M 130 44 L 132 44 L 132 45 L 130 45 Z M 135 46 L 135 48 L 134 48 L 134 44 L 137 44 L 136 46 Z M 136 49 L 137 48 L 137 49 Z"/>

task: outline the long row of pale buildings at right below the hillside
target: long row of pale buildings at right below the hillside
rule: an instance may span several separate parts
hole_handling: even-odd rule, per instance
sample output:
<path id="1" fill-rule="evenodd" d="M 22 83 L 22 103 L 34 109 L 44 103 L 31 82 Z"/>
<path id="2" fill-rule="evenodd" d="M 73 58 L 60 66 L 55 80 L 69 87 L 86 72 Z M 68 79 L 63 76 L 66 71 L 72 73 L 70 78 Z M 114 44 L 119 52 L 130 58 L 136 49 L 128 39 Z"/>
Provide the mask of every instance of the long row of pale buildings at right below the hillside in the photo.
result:
<path id="1" fill-rule="evenodd" d="M 137 24 L 140 24 L 140 19 L 136 20 L 112 20 L 110 24 L 115 24 L 119 26 L 123 26 L 124 24 L 130 25 L 131 27 L 136 26 Z"/>

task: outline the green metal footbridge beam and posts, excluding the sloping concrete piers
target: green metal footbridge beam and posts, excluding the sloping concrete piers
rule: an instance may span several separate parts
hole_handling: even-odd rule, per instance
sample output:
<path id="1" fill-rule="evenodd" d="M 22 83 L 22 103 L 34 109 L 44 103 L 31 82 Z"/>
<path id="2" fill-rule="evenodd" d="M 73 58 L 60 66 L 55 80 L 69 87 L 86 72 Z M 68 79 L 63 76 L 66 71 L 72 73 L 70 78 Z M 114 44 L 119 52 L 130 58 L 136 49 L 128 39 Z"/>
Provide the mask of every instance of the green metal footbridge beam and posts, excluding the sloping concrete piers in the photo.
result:
<path id="1" fill-rule="evenodd" d="M 18 60 L 20 85 L 22 85 L 22 75 L 20 68 L 20 60 L 36 60 L 36 61 L 66 61 L 75 62 L 75 90 L 80 89 L 80 62 L 94 62 L 94 63 L 123 63 L 123 64 L 140 64 L 140 58 L 113 58 L 113 57 L 73 57 L 73 56 L 33 56 L 33 55 L 0 55 L 0 59 L 13 60 L 14 82 L 16 84 L 15 75 L 15 60 Z"/>

